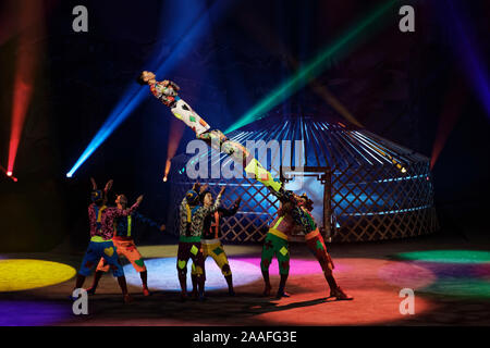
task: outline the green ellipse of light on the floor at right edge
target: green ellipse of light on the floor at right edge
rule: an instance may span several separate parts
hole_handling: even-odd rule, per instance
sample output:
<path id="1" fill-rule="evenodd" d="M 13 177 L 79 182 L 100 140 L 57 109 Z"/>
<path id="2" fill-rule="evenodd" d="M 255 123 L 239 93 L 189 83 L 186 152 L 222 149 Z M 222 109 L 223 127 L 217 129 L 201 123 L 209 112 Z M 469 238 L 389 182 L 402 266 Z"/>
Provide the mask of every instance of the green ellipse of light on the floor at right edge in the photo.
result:
<path id="1" fill-rule="evenodd" d="M 403 260 L 443 262 L 443 263 L 485 263 L 490 262 L 490 251 L 477 250 L 428 250 L 401 252 L 396 254 Z"/>

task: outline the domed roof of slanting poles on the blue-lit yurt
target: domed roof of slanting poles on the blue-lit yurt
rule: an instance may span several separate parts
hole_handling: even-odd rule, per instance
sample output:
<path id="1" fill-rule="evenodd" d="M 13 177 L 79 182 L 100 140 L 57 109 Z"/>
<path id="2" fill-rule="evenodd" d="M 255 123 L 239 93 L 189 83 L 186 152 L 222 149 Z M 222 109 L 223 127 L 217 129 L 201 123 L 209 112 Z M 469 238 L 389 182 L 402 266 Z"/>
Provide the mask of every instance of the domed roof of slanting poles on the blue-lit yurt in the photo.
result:
<path id="1" fill-rule="evenodd" d="M 266 116 L 226 134 L 231 140 L 304 140 L 308 167 L 345 169 L 347 166 L 426 162 L 429 159 L 411 149 L 335 117 L 292 114 Z M 281 157 L 282 158 L 282 157 Z M 291 165 L 295 166 L 294 157 Z"/>

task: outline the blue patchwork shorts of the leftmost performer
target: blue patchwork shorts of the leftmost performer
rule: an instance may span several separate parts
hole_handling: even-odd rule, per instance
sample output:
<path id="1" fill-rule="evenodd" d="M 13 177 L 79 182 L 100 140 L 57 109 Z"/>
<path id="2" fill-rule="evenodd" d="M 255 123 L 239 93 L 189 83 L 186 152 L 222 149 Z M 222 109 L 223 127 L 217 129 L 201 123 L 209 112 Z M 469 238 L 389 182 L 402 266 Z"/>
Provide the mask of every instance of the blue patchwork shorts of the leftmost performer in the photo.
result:
<path id="1" fill-rule="evenodd" d="M 124 275 L 124 271 L 119 262 L 118 252 L 115 252 L 115 247 L 112 240 L 90 240 L 78 273 L 84 276 L 89 276 L 91 274 L 91 270 L 99 263 L 101 258 L 106 259 L 107 263 L 109 263 L 112 274 L 115 277 Z"/>

